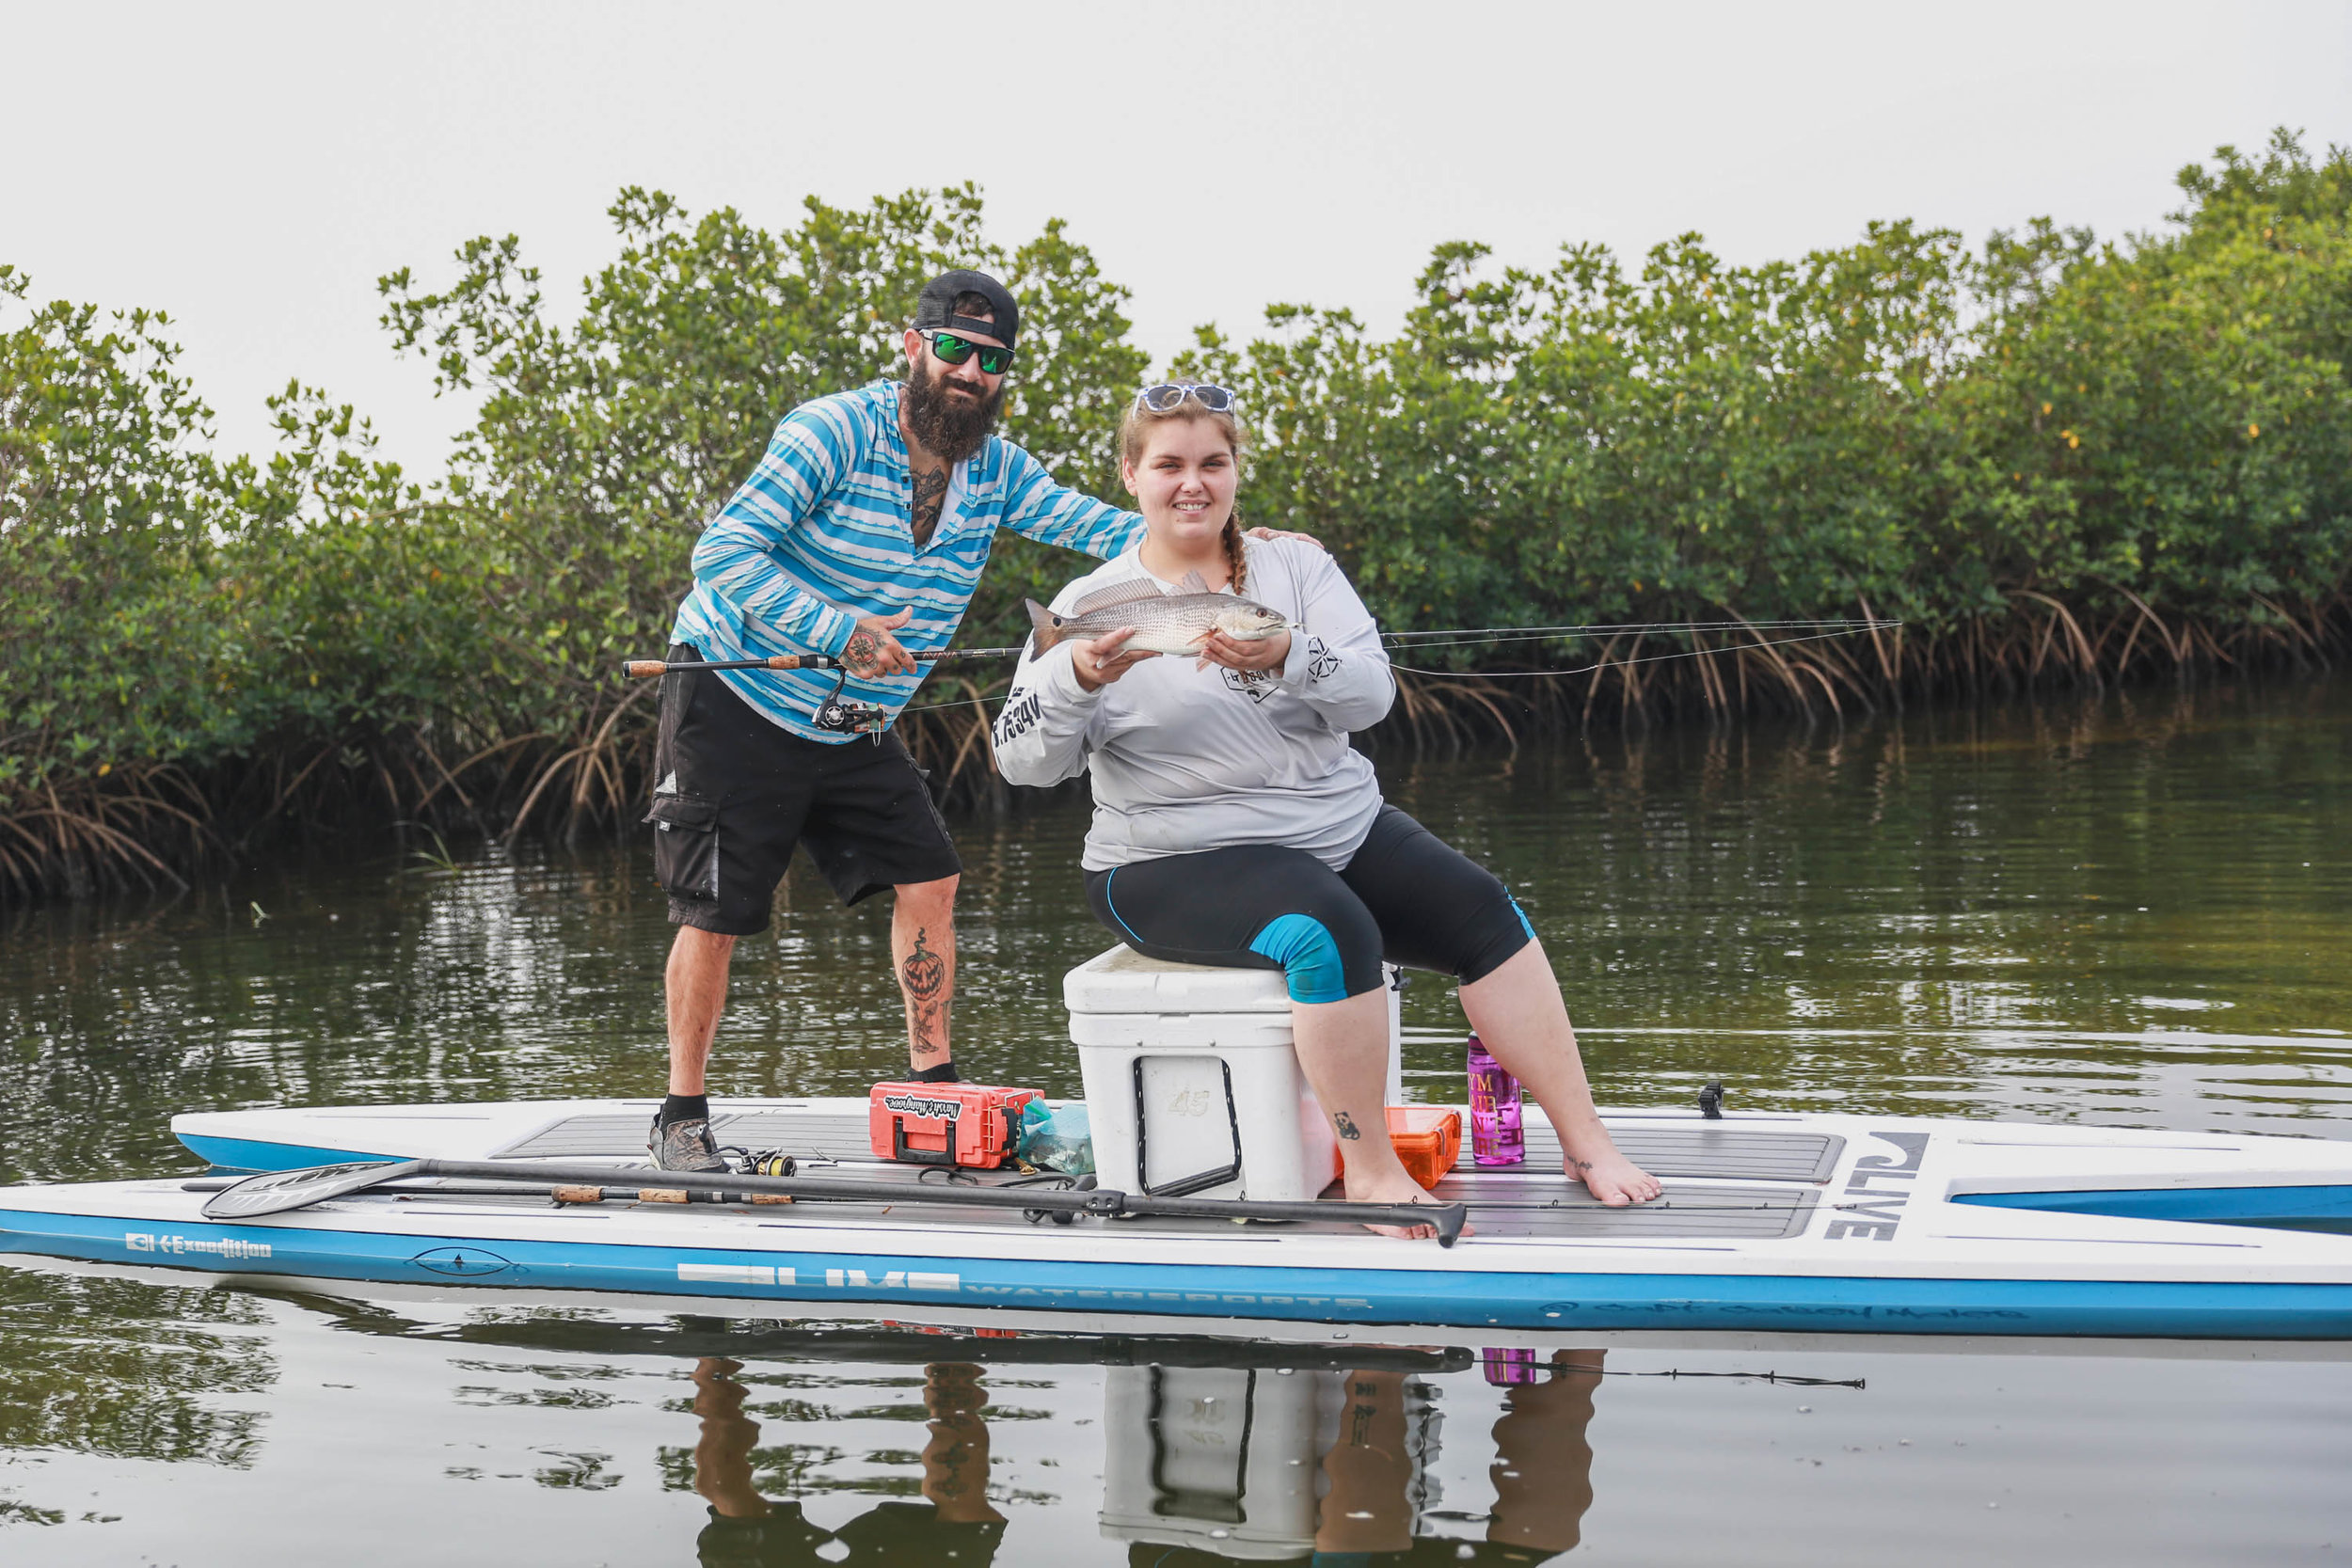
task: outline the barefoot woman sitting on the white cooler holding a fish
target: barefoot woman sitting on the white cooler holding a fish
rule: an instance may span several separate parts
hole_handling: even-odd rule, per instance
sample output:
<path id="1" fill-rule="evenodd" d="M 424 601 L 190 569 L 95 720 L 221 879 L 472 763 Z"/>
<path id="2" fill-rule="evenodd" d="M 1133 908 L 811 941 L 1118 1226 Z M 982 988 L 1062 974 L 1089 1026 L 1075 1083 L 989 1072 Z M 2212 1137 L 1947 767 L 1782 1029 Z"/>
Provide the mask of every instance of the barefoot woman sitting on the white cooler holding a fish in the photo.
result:
<path id="1" fill-rule="evenodd" d="M 1136 395 L 1120 475 L 1148 536 L 1070 583 L 1054 616 L 1033 611 L 1040 637 L 997 717 L 997 766 L 1025 785 L 1094 773 L 1087 898 L 1129 947 L 1284 971 L 1298 1065 L 1343 1140 L 1350 1199 L 1425 1197 L 1385 1135 L 1383 957 L 1461 980 L 1470 1027 L 1550 1114 L 1566 1168 L 1597 1199 L 1656 1197 L 1592 1110 L 1569 1011 L 1519 905 L 1385 804 L 1348 745 L 1395 701 L 1378 628 L 1329 555 L 1242 536 L 1240 456 L 1232 393 L 1164 383 Z M 1240 635 L 1211 630 L 1197 656 L 1160 658 L 1127 644 L 1169 607 L 1103 609 L 1122 588 L 1225 590 L 1289 625 L 1235 607 L 1225 623 Z M 1089 609 L 1117 630 L 1054 639 L 1058 618 Z"/>

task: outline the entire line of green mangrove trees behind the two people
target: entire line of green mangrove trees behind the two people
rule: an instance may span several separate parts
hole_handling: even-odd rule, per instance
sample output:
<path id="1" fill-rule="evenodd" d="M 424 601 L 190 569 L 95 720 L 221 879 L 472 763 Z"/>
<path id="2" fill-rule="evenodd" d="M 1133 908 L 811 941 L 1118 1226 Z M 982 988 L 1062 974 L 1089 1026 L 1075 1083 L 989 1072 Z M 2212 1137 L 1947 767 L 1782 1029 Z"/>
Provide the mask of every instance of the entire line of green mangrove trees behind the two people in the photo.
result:
<path id="1" fill-rule="evenodd" d="M 1244 395 L 1247 520 L 1324 538 L 1392 628 L 1867 609 L 1922 649 L 1872 679 L 1973 679 L 2020 635 L 2042 670 L 2058 621 L 2077 668 L 2340 639 L 2352 155 L 2281 132 L 2180 190 L 2117 242 L 1875 223 L 1766 266 L 1682 235 L 1545 270 L 1444 244 L 1395 339 L 1275 306 L 1174 369 Z M 216 811 L 630 816 L 652 705 L 614 663 L 666 642 L 776 418 L 901 374 L 943 266 L 1023 299 L 1004 433 L 1117 494 L 1145 357 L 1061 223 L 1007 252 L 971 186 L 783 230 L 630 188 L 612 221 L 569 324 L 513 235 L 381 280 L 393 343 L 480 397 L 430 487 L 299 383 L 275 454 L 216 458 L 167 317 L 33 306 L 0 266 L 0 896 Z M 964 639 L 1014 639 L 1075 567 L 1002 541 Z M 983 759 L 964 736 L 955 766 Z"/>

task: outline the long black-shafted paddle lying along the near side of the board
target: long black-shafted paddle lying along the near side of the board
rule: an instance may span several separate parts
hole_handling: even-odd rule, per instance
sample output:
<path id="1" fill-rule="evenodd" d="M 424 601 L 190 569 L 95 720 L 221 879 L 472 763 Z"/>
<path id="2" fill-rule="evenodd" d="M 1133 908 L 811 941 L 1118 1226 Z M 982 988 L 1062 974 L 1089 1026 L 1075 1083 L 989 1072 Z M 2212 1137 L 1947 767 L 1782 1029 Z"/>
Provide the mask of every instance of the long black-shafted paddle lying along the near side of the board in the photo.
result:
<path id="1" fill-rule="evenodd" d="M 727 1175 L 699 1171 L 644 1171 L 621 1166 L 517 1164 L 503 1159 L 400 1159 L 362 1166 L 313 1166 L 266 1171 L 205 1199 L 207 1220 L 252 1220 L 266 1213 L 308 1208 L 353 1192 L 414 1175 L 470 1175 L 546 1187 L 609 1187 L 640 1182 L 670 1192 L 724 1192 L 746 1197 L 833 1199 L 851 1204 L 950 1204 L 962 1208 L 1025 1208 L 1068 1215 L 1136 1215 L 1160 1220 L 1352 1220 L 1357 1225 L 1435 1225 L 1437 1244 L 1454 1246 L 1470 1211 L 1461 1204 L 1348 1204 L 1312 1199 L 1275 1204 L 1251 1199 L 1134 1197 L 1108 1190 L 1063 1187 L 948 1187 L 938 1182 L 858 1182 L 821 1175 Z"/>

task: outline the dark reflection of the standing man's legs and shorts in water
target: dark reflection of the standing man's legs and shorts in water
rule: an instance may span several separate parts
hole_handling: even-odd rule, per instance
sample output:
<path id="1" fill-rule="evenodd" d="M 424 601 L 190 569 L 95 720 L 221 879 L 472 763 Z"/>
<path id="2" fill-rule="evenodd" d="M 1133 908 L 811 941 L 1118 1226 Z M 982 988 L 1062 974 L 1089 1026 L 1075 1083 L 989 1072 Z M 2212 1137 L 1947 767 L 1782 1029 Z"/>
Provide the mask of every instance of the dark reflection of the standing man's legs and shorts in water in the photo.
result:
<path id="1" fill-rule="evenodd" d="M 877 1502 L 840 1530 L 809 1523 L 800 1502 L 760 1495 L 750 1455 L 760 1422 L 743 1415 L 748 1389 L 734 1380 L 741 1361 L 694 1363 L 694 1490 L 710 1523 L 694 1540 L 703 1568 L 835 1568 L 849 1563 L 938 1563 L 990 1568 L 1004 1540 L 1004 1514 L 988 1502 L 988 1389 L 981 1368 L 938 1361 L 922 1368 L 922 1406 L 931 1441 L 922 1450 L 924 1502 Z M 835 1549 L 826 1552 L 830 1542 Z M 847 1552 L 844 1552 L 847 1547 Z"/>

